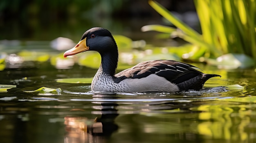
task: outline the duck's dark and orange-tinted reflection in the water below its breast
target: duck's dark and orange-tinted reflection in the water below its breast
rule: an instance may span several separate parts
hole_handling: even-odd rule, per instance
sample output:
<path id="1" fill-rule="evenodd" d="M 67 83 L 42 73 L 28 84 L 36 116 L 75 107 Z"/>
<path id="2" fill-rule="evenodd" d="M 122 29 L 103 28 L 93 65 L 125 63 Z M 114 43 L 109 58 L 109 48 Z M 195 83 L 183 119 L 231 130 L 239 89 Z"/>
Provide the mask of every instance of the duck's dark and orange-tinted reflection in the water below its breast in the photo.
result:
<path id="1" fill-rule="evenodd" d="M 103 95 L 94 95 L 93 99 L 106 99 Z M 107 97 L 108 99 L 110 97 Z M 113 99 L 114 97 L 111 97 Z M 92 106 L 92 114 L 101 114 L 100 117 L 90 119 L 89 117 L 65 117 L 65 143 L 103 143 L 118 129 L 115 118 L 118 116 L 115 102 L 92 102 L 98 105 Z M 72 109 L 72 111 L 85 111 L 83 109 Z"/>

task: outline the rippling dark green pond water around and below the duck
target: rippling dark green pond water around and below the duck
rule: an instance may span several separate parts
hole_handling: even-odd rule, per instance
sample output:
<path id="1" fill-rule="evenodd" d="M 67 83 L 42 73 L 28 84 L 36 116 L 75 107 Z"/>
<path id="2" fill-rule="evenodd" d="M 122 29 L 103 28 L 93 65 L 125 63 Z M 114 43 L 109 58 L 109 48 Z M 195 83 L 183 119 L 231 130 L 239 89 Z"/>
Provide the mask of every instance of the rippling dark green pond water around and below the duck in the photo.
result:
<path id="1" fill-rule="evenodd" d="M 0 84 L 17 85 L 0 92 L 1 143 L 256 141 L 254 69 L 220 70 L 193 64 L 222 77 L 210 79 L 201 91 L 92 94 L 90 84 L 56 79 L 93 77 L 97 69 L 26 64 L 34 66 L 0 71 Z M 223 87 L 230 85 L 234 87 Z M 41 87 L 61 91 L 25 92 Z"/>

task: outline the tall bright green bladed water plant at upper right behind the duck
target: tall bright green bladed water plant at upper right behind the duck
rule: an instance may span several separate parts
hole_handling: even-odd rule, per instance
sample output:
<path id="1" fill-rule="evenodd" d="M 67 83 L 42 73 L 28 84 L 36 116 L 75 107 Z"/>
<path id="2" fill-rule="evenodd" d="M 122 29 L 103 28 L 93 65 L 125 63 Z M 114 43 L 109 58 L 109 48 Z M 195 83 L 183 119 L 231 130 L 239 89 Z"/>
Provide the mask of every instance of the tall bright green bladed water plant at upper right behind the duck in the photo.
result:
<path id="1" fill-rule="evenodd" d="M 202 34 L 179 20 L 159 3 L 153 0 L 148 2 L 177 29 L 147 25 L 142 27 L 142 31 L 171 33 L 172 36 L 180 37 L 199 47 L 186 58 L 217 58 L 227 53 L 238 53 L 256 61 L 255 0 L 194 0 Z"/>

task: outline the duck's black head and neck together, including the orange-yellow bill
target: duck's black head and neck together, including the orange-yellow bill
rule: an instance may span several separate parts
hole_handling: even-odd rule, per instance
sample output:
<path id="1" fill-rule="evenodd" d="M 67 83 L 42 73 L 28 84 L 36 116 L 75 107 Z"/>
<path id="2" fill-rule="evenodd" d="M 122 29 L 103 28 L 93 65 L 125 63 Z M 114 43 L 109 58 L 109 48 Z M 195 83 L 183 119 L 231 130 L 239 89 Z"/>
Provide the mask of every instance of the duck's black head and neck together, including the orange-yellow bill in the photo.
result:
<path id="1" fill-rule="evenodd" d="M 117 44 L 112 34 L 101 27 L 86 31 L 76 46 L 64 53 L 64 57 L 85 51 L 97 51 L 101 55 L 101 67 L 109 75 L 114 75 L 118 62 Z"/>

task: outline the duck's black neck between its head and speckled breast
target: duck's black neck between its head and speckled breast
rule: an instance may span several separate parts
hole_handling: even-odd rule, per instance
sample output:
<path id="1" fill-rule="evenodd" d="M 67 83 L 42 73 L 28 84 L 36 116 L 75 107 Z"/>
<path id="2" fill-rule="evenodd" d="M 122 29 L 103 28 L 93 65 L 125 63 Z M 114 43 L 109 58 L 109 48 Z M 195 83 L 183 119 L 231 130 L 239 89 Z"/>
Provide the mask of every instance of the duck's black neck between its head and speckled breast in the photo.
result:
<path id="1" fill-rule="evenodd" d="M 101 66 L 99 70 L 114 77 L 117 69 L 118 62 L 118 51 L 110 51 L 106 53 L 100 53 L 101 55 Z"/>

